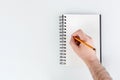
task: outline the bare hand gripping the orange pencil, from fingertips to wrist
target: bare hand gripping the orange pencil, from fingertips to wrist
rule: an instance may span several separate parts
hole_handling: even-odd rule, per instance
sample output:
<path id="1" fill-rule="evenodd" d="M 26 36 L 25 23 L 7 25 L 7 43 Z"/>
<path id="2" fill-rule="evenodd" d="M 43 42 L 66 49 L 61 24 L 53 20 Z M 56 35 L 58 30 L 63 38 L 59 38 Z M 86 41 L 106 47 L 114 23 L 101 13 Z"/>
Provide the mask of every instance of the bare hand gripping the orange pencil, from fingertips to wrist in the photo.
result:
<path id="1" fill-rule="evenodd" d="M 84 42 L 86 42 L 94 47 L 92 38 L 90 36 L 86 35 L 80 29 L 72 34 L 71 40 L 70 40 L 70 45 L 72 46 L 73 50 L 77 53 L 77 55 L 83 59 L 83 61 L 88 62 L 91 60 L 96 60 L 97 57 L 96 57 L 95 51 L 93 49 L 89 48 L 88 46 L 77 42 L 73 38 L 74 36 L 79 37 L 81 40 L 83 40 Z"/>

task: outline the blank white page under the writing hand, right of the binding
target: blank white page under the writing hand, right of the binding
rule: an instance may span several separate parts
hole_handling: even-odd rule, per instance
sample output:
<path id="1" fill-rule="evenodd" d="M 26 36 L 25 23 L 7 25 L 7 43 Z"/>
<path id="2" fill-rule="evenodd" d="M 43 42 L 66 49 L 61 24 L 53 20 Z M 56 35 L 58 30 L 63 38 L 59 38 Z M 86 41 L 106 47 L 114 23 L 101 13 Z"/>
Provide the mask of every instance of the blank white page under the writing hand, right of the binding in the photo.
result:
<path id="1" fill-rule="evenodd" d="M 82 29 L 92 37 L 96 48 L 96 55 L 100 60 L 100 15 L 98 14 L 64 14 L 66 16 L 66 65 L 82 68 L 84 63 L 73 51 L 69 42 L 71 35 Z"/>

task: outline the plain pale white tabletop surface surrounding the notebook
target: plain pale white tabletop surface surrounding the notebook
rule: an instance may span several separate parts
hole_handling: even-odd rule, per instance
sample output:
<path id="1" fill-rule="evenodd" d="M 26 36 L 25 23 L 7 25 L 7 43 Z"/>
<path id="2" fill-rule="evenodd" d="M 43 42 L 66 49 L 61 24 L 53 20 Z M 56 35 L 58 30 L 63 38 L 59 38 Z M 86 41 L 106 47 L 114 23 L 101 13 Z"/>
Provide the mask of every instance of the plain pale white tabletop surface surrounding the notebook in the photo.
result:
<path id="1" fill-rule="evenodd" d="M 103 64 L 114 80 L 120 80 L 119 3 L 119 0 L 1 0 L 0 80 L 57 80 L 58 15 L 62 13 L 102 14 Z M 61 80 L 69 79 L 61 76 Z"/>

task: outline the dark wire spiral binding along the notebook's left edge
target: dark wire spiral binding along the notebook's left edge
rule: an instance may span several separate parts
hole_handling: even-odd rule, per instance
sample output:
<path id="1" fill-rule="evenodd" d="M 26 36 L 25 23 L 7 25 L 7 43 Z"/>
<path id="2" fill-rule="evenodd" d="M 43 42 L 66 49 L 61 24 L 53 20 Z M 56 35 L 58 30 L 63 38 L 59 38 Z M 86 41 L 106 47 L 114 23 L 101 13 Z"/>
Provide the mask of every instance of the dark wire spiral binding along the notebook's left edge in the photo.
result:
<path id="1" fill-rule="evenodd" d="M 60 64 L 66 64 L 66 16 L 59 17 L 60 33 Z"/>

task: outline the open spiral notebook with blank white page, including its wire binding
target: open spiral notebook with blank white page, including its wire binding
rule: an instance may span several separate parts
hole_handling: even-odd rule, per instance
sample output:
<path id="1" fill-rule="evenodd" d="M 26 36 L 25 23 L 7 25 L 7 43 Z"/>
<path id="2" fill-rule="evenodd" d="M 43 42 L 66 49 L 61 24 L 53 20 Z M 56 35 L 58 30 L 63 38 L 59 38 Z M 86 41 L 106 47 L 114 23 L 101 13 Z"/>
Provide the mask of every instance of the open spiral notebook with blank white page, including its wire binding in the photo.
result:
<path id="1" fill-rule="evenodd" d="M 60 65 L 84 67 L 84 62 L 73 51 L 69 42 L 71 34 L 82 29 L 92 37 L 96 55 L 101 61 L 101 15 L 100 14 L 63 14 L 60 21 Z"/>

